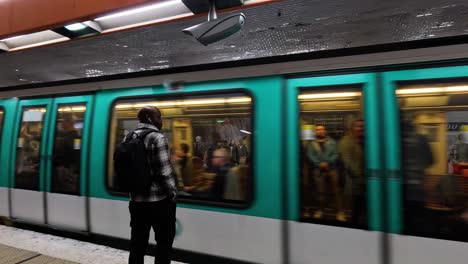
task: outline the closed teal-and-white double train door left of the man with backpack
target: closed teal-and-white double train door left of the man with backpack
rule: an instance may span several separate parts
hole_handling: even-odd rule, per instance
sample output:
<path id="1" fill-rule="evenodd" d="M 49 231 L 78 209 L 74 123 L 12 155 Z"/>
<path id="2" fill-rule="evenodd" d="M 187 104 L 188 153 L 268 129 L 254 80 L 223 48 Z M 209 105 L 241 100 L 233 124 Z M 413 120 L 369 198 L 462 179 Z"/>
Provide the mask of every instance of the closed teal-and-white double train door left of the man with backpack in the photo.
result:
<path id="1" fill-rule="evenodd" d="M 90 107 L 91 96 L 19 102 L 11 161 L 13 218 L 87 229 Z"/>

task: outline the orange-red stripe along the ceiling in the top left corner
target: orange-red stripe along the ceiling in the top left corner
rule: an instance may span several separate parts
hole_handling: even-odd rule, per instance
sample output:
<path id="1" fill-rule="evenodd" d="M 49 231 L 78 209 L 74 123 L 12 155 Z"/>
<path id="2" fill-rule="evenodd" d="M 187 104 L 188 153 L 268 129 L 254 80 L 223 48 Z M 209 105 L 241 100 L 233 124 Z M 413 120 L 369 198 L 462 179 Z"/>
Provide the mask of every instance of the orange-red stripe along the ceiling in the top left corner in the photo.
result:
<path id="1" fill-rule="evenodd" d="M 0 39 L 161 0 L 0 0 Z"/>

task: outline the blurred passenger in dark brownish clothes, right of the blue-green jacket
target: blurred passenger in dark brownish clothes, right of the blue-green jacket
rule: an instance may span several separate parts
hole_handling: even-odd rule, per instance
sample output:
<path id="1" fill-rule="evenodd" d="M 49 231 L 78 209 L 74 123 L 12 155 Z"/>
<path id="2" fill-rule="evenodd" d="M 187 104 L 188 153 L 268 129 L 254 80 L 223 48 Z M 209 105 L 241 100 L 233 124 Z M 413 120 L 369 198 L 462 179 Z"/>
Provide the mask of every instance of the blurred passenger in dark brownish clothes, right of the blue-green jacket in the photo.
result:
<path id="1" fill-rule="evenodd" d="M 366 185 L 364 177 L 364 121 L 355 120 L 351 133 L 344 136 L 339 145 L 338 153 L 343 162 L 344 170 L 351 179 L 352 186 L 352 222 L 362 225 L 367 212 Z"/>

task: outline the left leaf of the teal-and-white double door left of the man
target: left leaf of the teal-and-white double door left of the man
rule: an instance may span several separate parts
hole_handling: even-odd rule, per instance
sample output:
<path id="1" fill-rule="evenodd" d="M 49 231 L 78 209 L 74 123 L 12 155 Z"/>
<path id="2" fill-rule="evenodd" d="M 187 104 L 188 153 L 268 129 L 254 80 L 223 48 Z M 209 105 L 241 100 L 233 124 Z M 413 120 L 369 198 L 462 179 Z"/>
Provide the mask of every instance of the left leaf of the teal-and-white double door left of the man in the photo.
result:
<path id="1" fill-rule="evenodd" d="M 25 221 L 45 224 L 45 166 L 47 124 L 51 99 L 22 100 L 15 120 L 10 171 L 11 216 Z"/>

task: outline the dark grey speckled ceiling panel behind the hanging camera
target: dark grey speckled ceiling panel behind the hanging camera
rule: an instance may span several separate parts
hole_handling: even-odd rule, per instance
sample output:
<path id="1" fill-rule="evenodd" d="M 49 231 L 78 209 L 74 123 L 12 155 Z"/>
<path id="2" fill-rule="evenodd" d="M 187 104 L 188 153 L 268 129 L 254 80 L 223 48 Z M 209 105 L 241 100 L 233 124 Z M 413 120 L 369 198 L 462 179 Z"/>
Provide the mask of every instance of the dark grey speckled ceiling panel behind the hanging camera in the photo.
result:
<path id="1" fill-rule="evenodd" d="M 206 19 L 193 17 L 2 53 L 0 89 L 243 65 L 259 59 L 265 63 L 287 56 L 300 59 L 383 44 L 401 43 L 404 49 L 412 41 L 468 34 L 466 0 L 286 0 L 241 12 L 247 17 L 242 31 L 210 46 L 181 32 Z"/>

